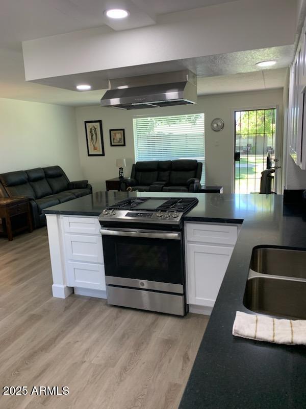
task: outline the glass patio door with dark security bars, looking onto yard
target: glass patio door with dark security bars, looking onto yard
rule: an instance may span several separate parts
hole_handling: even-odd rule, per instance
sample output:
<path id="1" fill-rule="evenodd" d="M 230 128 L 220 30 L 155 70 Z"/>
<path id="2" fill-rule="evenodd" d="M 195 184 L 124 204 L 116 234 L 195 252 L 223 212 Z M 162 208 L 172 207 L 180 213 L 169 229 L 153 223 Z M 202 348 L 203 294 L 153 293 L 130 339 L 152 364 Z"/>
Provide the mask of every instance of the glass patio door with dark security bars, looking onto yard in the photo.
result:
<path id="1" fill-rule="evenodd" d="M 260 192 L 267 155 L 274 166 L 275 151 L 276 108 L 235 111 L 235 193 Z"/>

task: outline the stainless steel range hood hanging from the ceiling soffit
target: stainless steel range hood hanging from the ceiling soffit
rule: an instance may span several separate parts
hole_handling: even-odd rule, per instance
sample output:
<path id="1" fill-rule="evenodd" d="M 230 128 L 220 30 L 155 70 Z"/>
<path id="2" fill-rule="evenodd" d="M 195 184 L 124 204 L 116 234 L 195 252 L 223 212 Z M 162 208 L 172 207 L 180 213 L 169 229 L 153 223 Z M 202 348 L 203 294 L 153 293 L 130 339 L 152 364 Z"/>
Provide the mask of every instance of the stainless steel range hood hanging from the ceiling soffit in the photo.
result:
<path id="1" fill-rule="evenodd" d="M 109 80 L 101 106 L 141 109 L 197 102 L 196 75 L 189 70 Z"/>

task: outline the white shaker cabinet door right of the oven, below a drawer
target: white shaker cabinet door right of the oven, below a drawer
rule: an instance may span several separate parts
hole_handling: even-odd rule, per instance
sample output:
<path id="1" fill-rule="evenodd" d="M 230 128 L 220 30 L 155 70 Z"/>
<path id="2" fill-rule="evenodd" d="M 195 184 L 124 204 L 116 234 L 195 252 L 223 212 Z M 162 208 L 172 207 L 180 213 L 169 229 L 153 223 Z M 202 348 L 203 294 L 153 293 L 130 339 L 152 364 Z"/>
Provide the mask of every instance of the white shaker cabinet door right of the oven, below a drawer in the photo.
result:
<path id="1" fill-rule="evenodd" d="M 187 243 L 189 304 L 214 306 L 233 249 Z"/>

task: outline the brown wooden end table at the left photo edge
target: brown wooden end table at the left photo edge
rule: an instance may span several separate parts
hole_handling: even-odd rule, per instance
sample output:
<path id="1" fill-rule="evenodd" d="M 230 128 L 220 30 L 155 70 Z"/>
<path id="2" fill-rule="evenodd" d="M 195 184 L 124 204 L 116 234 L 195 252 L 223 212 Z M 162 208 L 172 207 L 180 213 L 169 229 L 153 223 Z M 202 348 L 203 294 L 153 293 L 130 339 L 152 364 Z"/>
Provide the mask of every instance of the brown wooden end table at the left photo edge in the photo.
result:
<path id="1" fill-rule="evenodd" d="M 21 217 L 18 217 L 21 216 Z M 23 216 L 23 217 L 22 217 Z M 13 234 L 33 232 L 30 203 L 27 197 L 0 197 L 0 236 L 13 240 Z"/>

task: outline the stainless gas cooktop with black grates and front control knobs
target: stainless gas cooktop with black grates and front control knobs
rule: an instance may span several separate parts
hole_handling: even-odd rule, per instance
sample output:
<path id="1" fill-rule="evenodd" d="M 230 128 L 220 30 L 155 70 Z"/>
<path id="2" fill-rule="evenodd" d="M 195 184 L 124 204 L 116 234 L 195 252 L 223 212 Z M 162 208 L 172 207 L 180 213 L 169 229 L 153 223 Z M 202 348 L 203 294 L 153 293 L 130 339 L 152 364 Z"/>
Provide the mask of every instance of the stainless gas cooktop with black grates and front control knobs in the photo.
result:
<path id="1" fill-rule="evenodd" d="M 127 197 L 104 209 L 99 221 L 179 224 L 183 214 L 197 203 L 196 197 Z"/>

